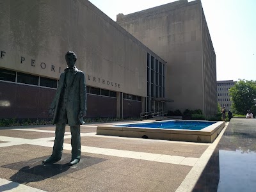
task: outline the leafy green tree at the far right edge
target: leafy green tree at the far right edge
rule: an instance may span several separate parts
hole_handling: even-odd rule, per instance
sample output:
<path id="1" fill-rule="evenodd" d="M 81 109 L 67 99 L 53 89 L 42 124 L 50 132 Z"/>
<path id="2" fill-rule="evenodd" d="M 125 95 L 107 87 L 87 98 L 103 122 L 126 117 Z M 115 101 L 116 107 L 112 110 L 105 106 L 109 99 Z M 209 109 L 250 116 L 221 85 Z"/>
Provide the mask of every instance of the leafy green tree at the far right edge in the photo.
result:
<path id="1" fill-rule="evenodd" d="M 232 109 L 234 109 L 235 113 L 244 115 L 247 110 L 250 109 L 253 115 L 256 115 L 256 81 L 239 79 L 239 81 L 230 88 L 229 92 L 232 99 Z"/>

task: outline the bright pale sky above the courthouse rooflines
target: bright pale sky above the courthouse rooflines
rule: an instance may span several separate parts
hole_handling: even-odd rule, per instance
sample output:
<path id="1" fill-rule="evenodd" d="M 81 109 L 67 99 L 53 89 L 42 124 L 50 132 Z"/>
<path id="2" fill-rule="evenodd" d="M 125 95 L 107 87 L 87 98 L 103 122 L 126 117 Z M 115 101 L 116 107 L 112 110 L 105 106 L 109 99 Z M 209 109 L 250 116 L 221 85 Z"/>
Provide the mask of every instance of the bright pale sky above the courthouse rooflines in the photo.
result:
<path id="1" fill-rule="evenodd" d="M 89 0 L 111 19 L 173 0 Z M 191 1 L 191 0 L 189 0 Z M 256 1 L 202 0 L 216 51 L 217 81 L 256 80 Z"/>

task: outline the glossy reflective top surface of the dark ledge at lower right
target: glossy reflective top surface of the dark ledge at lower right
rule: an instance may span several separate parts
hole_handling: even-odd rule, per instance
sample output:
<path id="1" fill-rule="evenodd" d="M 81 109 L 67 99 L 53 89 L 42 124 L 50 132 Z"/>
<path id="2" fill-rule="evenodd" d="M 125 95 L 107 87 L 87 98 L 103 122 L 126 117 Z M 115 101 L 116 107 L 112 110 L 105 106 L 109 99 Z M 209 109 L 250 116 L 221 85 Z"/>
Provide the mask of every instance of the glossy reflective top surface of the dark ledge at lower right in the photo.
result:
<path id="1" fill-rule="evenodd" d="M 193 191 L 256 191 L 256 119 L 232 118 Z"/>

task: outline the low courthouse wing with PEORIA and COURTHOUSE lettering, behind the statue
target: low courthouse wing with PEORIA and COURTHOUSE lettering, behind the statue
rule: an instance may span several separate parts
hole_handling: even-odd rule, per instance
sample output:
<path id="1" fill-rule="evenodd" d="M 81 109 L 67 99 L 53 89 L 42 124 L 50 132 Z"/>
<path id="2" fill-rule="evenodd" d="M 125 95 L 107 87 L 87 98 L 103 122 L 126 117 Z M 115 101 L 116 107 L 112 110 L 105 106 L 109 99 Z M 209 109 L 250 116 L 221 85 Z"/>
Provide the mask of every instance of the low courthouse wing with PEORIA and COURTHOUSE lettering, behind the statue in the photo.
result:
<path id="1" fill-rule="evenodd" d="M 88 117 L 140 116 L 158 102 L 147 67 L 164 97 L 166 62 L 89 1 L 0 1 L 0 29 L 0 118 L 46 118 L 67 51 L 86 75 Z"/>

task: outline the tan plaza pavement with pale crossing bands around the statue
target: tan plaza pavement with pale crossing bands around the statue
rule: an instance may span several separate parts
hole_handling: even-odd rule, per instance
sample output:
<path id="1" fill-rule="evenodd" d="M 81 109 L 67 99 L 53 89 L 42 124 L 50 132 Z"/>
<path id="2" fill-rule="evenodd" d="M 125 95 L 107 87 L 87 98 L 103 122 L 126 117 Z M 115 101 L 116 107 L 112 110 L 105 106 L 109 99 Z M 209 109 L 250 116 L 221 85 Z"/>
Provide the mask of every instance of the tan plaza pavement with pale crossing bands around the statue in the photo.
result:
<path id="1" fill-rule="evenodd" d="M 192 191 L 226 129 L 214 143 L 192 143 L 100 136 L 97 125 L 81 126 L 81 161 L 71 167 L 68 126 L 55 164 L 42 164 L 53 125 L 1 127 L 0 191 Z"/>

